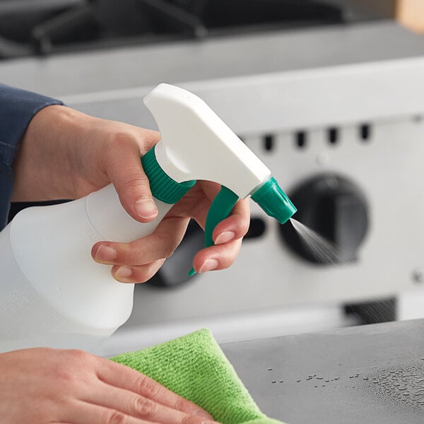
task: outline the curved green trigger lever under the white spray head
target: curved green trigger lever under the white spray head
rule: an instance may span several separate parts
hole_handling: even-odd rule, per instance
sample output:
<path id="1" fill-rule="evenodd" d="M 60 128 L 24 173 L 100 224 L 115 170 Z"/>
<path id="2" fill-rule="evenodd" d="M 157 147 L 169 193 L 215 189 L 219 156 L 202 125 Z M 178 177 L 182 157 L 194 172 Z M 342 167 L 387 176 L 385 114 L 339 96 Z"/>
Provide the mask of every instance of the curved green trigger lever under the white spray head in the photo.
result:
<path id="1" fill-rule="evenodd" d="M 216 198 L 213 199 L 211 207 L 208 211 L 208 216 L 206 216 L 205 223 L 205 247 L 213 246 L 212 232 L 222 220 L 227 218 L 232 208 L 234 208 L 239 197 L 237 194 L 232 192 L 225 186 L 221 186 L 220 192 L 216 195 Z M 190 269 L 189 276 L 194 276 L 196 271 L 194 268 Z"/>

